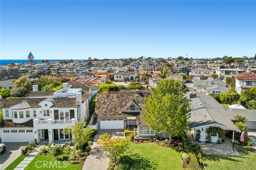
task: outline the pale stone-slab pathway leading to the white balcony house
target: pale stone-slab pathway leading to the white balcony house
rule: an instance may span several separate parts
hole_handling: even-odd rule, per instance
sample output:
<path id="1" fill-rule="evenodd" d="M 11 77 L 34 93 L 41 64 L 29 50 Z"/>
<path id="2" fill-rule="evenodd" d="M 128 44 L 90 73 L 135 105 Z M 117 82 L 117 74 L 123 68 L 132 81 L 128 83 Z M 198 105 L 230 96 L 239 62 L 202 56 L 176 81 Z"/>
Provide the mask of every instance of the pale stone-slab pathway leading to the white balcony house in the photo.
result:
<path id="1" fill-rule="evenodd" d="M 20 164 L 16 166 L 16 168 L 14 168 L 14 170 L 24 170 L 26 166 L 28 166 L 28 164 L 36 157 L 36 155 L 40 151 L 40 148 L 45 145 L 46 144 L 39 142 L 38 145 L 34 148 L 34 150 L 32 150 L 32 152 L 30 152 L 30 154 L 28 154 L 28 156 L 24 158 L 24 160 L 22 160 Z"/>

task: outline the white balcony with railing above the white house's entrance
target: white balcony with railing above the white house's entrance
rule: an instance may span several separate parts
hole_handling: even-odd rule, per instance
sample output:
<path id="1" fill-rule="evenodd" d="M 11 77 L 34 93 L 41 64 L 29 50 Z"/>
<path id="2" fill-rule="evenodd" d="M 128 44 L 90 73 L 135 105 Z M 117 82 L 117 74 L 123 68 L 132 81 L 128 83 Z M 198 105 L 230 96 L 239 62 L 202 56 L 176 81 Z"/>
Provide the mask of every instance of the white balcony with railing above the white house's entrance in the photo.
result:
<path id="1" fill-rule="evenodd" d="M 53 119 L 47 119 L 47 120 L 38 120 L 34 119 L 33 124 L 34 128 L 65 128 L 69 125 L 75 125 L 77 122 L 76 119 L 71 120 L 53 120 Z"/>

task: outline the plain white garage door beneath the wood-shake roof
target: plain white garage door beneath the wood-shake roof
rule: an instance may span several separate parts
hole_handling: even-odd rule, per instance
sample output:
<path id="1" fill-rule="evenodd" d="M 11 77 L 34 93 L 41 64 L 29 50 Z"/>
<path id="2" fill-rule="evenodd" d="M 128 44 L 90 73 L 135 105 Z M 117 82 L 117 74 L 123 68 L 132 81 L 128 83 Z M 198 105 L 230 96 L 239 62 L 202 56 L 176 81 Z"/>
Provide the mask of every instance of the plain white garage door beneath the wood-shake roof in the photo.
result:
<path id="1" fill-rule="evenodd" d="M 124 119 L 100 119 L 100 129 L 124 128 Z"/>

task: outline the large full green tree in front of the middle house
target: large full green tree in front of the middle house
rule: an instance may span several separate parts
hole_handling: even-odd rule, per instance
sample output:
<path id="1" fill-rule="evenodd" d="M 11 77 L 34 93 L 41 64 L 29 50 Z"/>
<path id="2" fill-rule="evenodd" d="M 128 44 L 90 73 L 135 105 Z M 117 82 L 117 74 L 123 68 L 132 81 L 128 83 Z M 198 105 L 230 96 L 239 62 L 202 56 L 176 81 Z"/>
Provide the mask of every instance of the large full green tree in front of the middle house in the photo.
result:
<path id="1" fill-rule="evenodd" d="M 173 79 L 161 81 L 151 93 L 142 117 L 156 133 L 167 133 L 171 143 L 172 136 L 182 136 L 189 130 L 190 100 L 184 97 L 180 81 Z"/>

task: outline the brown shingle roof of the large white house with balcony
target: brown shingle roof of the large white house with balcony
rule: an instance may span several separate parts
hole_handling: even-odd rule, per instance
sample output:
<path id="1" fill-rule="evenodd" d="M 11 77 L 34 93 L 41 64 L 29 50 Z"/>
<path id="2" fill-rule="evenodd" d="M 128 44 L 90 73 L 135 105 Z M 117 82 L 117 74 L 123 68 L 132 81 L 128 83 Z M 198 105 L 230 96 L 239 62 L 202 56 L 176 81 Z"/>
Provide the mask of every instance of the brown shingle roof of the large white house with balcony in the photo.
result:
<path id="1" fill-rule="evenodd" d="M 26 101 L 31 108 L 38 107 L 41 101 L 48 98 L 10 98 L 0 99 L 0 108 L 10 108 L 22 101 Z M 77 107 L 76 98 L 53 98 L 55 105 L 52 107 Z"/>

